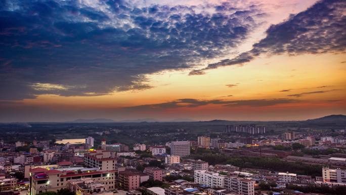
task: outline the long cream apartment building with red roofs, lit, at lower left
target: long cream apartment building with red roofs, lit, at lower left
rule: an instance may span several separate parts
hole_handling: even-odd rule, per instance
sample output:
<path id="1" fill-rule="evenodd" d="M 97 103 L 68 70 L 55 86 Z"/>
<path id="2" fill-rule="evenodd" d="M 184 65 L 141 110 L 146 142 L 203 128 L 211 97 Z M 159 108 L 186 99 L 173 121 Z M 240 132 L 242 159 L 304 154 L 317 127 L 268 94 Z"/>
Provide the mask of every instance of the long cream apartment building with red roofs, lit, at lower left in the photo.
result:
<path id="1" fill-rule="evenodd" d="M 67 187 L 71 179 L 89 178 L 101 182 L 106 190 L 115 189 L 115 170 L 101 171 L 98 168 L 64 167 L 56 169 L 30 169 L 29 195 L 45 191 L 57 191 Z"/>

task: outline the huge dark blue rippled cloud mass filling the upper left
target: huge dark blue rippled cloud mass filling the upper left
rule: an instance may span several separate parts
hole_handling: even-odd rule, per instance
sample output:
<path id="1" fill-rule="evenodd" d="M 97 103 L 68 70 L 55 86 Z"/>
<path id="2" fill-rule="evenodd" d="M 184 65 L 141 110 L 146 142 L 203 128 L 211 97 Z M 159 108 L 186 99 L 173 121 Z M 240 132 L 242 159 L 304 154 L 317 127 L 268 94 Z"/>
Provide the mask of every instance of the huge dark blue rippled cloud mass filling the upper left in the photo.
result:
<path id="1" fill-rule="evenodd" d="M 0 99 L 148 89 L 144 74 L 191 68 L 236 47 L 257 14 L 229 4 L 1 1 Z"/>

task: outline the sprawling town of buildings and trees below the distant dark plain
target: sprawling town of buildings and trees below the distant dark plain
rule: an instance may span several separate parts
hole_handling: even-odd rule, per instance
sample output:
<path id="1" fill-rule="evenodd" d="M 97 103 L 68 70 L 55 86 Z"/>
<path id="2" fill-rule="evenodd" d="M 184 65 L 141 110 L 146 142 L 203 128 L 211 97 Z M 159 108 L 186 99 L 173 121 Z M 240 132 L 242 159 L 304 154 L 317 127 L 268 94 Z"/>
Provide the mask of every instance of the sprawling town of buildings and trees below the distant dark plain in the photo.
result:
<path id="1" fill-rule="evenodd" d="M 131 145 L 109 142 L 114 132 L 94 132 L 100 142 L 92 136 L 14 143 L 2 139 L 1 194 L 346 192 L 344 129 L 270 134 L 265 126 L 226 125 L 216 136 Z"/>

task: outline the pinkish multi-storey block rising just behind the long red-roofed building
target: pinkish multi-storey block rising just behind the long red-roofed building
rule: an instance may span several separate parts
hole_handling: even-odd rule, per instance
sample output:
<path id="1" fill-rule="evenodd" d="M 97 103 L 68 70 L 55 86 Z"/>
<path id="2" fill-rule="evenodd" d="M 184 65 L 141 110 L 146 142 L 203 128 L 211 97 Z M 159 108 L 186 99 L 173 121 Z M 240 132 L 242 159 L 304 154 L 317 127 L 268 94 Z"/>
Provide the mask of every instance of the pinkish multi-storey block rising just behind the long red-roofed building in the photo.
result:
<path id="1" fill-rule="evenodd" d="M 116 158 L 114 152 L 107 150 L 95 150 L 84 154 L 84 165 L 99 168 L 102 171 L 115 170 Z"/>

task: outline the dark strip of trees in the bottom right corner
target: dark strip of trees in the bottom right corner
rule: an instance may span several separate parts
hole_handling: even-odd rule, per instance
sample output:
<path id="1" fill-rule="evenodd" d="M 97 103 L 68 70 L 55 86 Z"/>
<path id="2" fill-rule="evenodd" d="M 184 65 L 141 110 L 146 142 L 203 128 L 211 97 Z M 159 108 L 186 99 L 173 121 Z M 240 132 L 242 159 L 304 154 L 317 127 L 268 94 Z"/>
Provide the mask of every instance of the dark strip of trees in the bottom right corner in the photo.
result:
<path id="1" fill-rule="evenodd" d="M 316 185 L 307 185 L 307 186 L 297 186 L 288 184 L 287 189 L 298 190 L 304 193 L 321 193 L 321 194 L 346 194 L 345 186 L 337 187 L 328 187 L 328 186 L 316 186 Z"/>

